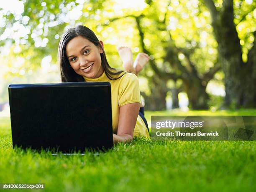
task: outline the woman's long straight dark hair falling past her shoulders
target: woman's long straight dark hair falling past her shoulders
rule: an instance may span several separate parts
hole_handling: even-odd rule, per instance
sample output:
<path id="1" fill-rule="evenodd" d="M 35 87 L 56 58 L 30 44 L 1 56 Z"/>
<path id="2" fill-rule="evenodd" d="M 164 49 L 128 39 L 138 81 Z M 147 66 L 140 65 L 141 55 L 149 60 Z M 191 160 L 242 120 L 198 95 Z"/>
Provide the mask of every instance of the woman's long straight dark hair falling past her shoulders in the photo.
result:
<path id="1" fill-rule="evenodd" d="M 130 73 L 130 72 L 125 72 L 122 70 L 117 70 L 115 68 L 110 67 L 108 64 L 107 58 L 105 51 L 103 47 L 99 43 L 99 39 L 93 33 L 92 30 L 89 28 L 83 26 L 83 25 L 78 25 L 75 28 L 69 28 L 62 36 L 61 40 L 59 42 L 59 49 L 58 49 L 58 60 L 59 60 L 59 66 L 60 66 L 60 72 L 61 72 L 61 81 L 62 82 L 78 82 L 78 81 L 85 81 L 83 76 L 78 75 L 74 69 L 71 67 L 69 60 L 67 58 L 67 53 L 66 53 L 66 45 L 69 43 L 70 40 L 77 36 L 82 36 L 86 38 L 87 40 L 90 40 L 95 46 L 100 46 L 102 48 L 103 53 L 100 53 L 100 58 L 101 58 L 101 65 L 106 73 L 106 76 L 111 79 L 111 80 L 116 80 L 120 77 L 122 77 L 125 73 Z M 114 72 L 116 71 L 116 72 Z M 123 73 L 121 76 L 120 73 Z M 114 75 L 118 75 L 118 77 L 114 77 Z"/>

